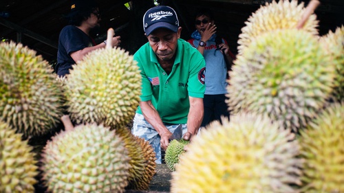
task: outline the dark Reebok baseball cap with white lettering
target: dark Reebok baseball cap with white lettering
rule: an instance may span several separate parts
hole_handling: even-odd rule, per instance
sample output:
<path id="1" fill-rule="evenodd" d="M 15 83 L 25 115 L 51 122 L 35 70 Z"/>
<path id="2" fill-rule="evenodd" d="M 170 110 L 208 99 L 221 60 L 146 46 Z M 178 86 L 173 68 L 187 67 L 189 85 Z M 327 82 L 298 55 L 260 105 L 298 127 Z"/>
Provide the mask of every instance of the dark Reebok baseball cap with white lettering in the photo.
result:
<path id="1" fill-rule="evenodd" d="M 158 28 L 178 32 L 178 16 L 169 6 L 158 5 L 147 10 L 143 16 L 143 30 L 147 36 Z"/>

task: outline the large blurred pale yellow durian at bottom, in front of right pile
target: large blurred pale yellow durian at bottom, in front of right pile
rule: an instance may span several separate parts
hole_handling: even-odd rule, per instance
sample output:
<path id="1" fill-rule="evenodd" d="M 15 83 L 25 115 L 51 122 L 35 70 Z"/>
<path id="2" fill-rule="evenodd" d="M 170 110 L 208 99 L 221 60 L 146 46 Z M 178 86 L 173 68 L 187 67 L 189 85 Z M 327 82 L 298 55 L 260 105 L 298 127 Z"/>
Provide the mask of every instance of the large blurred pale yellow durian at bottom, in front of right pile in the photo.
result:
<path id="1" fill-rule="evenodd" d="M 252 114 L 206 128 L 180 157 L 171 192 L 296 192 L 303 161 L 290 130 Z"/>

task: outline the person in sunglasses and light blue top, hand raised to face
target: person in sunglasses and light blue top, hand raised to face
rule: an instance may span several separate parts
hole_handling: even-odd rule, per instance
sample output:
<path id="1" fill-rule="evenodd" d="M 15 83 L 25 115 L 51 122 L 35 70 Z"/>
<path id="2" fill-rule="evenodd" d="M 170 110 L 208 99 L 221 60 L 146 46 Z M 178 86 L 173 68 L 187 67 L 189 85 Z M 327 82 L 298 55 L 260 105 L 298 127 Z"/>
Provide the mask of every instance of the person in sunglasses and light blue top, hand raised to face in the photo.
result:
<path id="1" fill-rule="evenodd" d="M 230 52 L 227 42 L 216 36 L 216 25 L 213 13 L 208 9 L 197 11 L 195 15 L 195 32 L 191 34 L 189 43 L 196 47 L 206 60 L 204 93 L 204 118 L 202 127 L 221 116 L 229 118 L 226 100 L 229 66 L 235 56 Z M 227 65 L 226 65 L 227 63 Z M 229 66 L 228 66 L 229 65 Z"/>

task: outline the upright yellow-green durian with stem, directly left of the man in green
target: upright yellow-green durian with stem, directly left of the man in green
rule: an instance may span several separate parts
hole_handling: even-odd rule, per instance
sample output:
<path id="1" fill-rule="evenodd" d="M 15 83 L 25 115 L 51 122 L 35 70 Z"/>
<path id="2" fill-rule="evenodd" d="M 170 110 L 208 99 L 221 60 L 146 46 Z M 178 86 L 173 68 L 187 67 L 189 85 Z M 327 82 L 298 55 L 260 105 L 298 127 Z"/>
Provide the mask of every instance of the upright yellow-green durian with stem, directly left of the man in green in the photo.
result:
<path id="1" fill-rule="evenodd" d="M 140 101 L 141 75 L 136 63 L 118 47 L 96 49 L 76 63 L 65 82 L 71 120 L 115 128 L 127 125 Z"/>

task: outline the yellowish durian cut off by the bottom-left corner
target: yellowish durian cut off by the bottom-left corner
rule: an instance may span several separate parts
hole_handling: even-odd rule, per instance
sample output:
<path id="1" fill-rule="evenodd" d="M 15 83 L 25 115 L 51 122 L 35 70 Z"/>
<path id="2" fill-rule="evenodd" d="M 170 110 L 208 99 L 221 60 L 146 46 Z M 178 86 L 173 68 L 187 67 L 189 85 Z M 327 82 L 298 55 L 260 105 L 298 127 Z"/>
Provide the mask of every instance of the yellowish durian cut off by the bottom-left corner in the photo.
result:
<path id="1" fill-rule="evenodd" d="M 0 120 L 0 192 L 34 192 L 37 166 L 32 147 Z"/>

